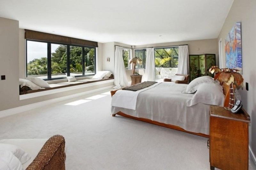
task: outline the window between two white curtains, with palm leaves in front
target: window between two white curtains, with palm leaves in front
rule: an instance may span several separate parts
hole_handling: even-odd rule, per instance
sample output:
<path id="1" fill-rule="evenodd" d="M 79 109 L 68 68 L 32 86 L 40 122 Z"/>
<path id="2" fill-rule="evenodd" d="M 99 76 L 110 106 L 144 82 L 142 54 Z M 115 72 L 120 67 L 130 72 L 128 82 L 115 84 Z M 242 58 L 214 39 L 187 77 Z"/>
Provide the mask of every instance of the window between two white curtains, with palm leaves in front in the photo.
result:
<path id="1" fill-rule="evenodd" d="M 155 48 L 154 51 L 155 51 L 155 58 L 171 57 L 171 60 L 165 62 L 162 67 L 170 67 L 170 68 L 178 67 L 179 47 Z"/>

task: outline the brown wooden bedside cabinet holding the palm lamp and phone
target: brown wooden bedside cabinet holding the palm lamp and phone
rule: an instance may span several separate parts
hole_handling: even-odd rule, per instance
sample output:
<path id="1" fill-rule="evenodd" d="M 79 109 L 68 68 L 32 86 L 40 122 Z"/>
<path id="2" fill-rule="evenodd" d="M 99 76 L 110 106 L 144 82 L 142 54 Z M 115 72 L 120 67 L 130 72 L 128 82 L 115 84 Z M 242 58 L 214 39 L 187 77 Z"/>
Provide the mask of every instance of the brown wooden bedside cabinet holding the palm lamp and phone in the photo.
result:
<path id="1" fill-rule="evenodd" d="M 248 170 L 248 123 L 244 109 L 232 113 L 223 107 L 210 107 L 210 166 L 222 170 Z"/>

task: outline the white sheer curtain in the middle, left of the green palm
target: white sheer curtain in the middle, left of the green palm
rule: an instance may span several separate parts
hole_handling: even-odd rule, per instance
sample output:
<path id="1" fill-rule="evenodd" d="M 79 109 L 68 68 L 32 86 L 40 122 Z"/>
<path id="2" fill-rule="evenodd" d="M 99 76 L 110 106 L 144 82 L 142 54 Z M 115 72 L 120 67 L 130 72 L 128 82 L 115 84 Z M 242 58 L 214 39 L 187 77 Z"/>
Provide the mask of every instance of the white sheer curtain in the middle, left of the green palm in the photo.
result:
<path id="1" fill-rule="evenodd" d="M 155 57 L 154 49 L 147 48 L 146 70 L 143 76 L 144 81 L 155 81 Z"/>

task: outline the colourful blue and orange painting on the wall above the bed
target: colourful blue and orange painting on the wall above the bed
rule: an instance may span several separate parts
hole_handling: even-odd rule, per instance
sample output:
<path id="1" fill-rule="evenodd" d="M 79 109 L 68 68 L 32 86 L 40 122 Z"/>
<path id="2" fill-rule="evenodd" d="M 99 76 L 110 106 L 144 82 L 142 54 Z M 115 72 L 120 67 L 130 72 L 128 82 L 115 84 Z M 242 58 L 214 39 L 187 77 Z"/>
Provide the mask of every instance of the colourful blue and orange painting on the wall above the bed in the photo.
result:
<path id="1" fill-rule="evenodd" d="M 242 74 L 241 22 L 230 30 L 225 39 L 226 66 L 235 68 Z"/>

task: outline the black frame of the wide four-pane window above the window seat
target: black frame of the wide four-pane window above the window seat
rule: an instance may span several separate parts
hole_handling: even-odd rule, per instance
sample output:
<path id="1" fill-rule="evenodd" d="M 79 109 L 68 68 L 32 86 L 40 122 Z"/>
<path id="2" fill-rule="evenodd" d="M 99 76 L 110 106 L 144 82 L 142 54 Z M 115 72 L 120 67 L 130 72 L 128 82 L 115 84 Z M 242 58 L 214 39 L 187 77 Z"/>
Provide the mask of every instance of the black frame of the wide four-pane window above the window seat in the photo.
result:
<path id="1" fill-rule="evenodd" d="M 43 79 L 45 81 L 49 80 L 61 80 L 66 79 L 67 77 L 58 77 L 58 78 L 52 78 L 52 52 L 51 52 L 51 44 L 58 44 L 58 45 L 64 45 L 67 46 L 67 76 L 70 76 L 70 46 L 78 46 L 82 47 L 82 67 L 83 72 L 82 75 L 76 75 L 75 77 L 88 77 L 96 74 L 96 47 L 92 46 L 80 46 L 80 45 L 74 45 L 74 44 L 65 44 L 65 43 L 58 43 L 58 42 L 49 42 L 49 41 L 41 41 L 41 40 L 35 40 L 35 39 L 26 39 L 26 77 L 28 77 L 28 49 L 27 44 L 28 41 L 35 41 L 35 42 L 42 42 L 47 43 L 47 79 Z M 94 49 L 94 74 L 86 74 L 85 75 L 85 52 L 84 48 L 93 48 Z"/>

